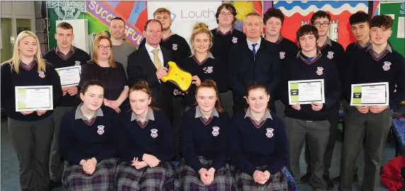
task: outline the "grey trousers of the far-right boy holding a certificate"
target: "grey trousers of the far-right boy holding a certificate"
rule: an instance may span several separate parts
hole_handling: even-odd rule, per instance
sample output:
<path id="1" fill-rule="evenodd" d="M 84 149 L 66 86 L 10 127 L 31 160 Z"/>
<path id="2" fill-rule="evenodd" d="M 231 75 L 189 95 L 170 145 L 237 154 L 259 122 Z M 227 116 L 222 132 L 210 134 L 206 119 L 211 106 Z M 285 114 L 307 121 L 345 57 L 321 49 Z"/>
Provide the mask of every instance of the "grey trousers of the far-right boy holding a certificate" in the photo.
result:
<path id="1" fill-rule="evenodd" d="M 365 170 L 363 190 L 379 190 L 382 148 L 392 126 L 392 113 L 384 110 L 380 113 L 358 112 L 350 107 L 346 117 L 341 157 L 341 183 L 339 190 L 353 190 L 355 160 L 364 142 Z"/>

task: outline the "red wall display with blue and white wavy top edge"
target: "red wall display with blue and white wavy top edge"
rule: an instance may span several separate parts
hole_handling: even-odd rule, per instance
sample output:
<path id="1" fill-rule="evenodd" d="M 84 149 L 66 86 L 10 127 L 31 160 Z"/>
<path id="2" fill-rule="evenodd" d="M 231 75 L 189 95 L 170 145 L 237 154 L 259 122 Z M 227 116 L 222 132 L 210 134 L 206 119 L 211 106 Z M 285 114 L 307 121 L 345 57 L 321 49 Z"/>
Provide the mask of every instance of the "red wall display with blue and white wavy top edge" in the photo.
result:
<path id="1" fill-rule="evenodd" d="M 346 49 L 355 39 L 350 31 L 349 17 L 357 12 L 368 12 L 367 1 L 273 1 L 275 8 L 280 8 L 285 16 L 281 34 L 297 42 L 295 33 L 304 24 L 311 24 L 311 16 L 318 10 L 331 14 L 329 37 Z"/>

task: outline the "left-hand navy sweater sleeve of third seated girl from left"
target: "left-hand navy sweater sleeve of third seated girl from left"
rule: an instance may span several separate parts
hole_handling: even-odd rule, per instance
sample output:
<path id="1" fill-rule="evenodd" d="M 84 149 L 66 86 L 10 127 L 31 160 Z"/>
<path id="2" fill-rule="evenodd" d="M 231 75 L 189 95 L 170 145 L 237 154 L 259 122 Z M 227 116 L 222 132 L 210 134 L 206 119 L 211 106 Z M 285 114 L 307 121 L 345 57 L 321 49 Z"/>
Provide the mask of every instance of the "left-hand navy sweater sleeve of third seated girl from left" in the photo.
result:
<path id="1" fill-rule="evenodd" d="M 188 119 L 188 112 L 184 113 L 183 119 L 181 120 L 181 149 L 183 152 L 184 159 L 186 163 L 190 165 L 196 173 L 203 168 L 203 165 L 200 163 L 197 154 L 194 149 L 194 140 L 193 140 L 193 126 Z"/>

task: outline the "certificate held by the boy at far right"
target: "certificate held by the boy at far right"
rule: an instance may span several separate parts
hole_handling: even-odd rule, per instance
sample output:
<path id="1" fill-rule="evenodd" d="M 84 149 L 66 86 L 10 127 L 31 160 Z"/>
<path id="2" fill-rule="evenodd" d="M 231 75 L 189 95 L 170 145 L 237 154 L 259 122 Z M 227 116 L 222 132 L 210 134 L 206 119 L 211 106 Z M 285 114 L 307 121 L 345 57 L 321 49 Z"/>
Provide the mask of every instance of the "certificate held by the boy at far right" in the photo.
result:
<path id="1" fill-rule="evenodd" d="M 388 82 L 352 84 L 350 105 L 388 105 Z"/>

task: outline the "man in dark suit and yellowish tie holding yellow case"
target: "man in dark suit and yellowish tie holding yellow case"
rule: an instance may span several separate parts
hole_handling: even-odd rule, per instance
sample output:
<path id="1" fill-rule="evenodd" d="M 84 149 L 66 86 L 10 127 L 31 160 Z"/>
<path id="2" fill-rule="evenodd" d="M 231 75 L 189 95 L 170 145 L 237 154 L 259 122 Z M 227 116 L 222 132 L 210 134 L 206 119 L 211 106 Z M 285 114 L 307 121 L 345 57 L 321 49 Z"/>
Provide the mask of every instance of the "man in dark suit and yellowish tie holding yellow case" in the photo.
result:
<path id="1" fill-rule="evenodd" d="M 173 85 L 161 81 L 167 75 L 165 65 L 171 61 L 170 50 L 159 45 L 162 35 L 162 25 L 159 21 L 151 19 L 144 27 L 146 44 L 128 56 L 127 75 L 128 83 L 133 86 L 138 81 L 147 81 L 152 91 L 154 106 L 164 110 L 169 120 L 173 122 Z"/>

